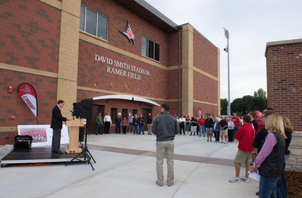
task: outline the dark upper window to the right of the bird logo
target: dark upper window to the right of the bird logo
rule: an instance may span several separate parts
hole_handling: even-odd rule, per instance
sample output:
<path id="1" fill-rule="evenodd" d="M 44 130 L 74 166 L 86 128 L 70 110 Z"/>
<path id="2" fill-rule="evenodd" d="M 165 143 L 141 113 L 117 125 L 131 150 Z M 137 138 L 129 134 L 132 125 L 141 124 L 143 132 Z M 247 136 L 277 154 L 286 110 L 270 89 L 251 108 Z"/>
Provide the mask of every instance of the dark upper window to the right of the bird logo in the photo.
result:
<path id="1" fill-rule="evenodd" d="M 161 46 L 154 41 L 142 37 L 141 38 L 141 54 L 152 58 L 154 60 L 160 61 L 161 57 Z"/>

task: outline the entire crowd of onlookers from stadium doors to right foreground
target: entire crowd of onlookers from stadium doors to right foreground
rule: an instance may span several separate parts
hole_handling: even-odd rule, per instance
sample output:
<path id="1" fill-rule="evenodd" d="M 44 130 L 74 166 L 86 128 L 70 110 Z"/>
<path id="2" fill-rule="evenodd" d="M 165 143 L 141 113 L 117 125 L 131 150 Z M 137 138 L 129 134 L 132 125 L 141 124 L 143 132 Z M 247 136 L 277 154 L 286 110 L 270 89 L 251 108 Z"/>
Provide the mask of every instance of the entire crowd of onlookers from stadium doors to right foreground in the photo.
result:
<path id="1" fill-rule="evenodd" d="M 147 124 L 148 135 L 152 135 L 152 123 L 159 116 L 152 118 L 151 113 L 144 119 L 130 114 L 128 119 L 121 118 L 121 114 L 115 118 L 116 134 L 144 135 L 144 125 Z M 174 114 L 180 128 L 179 135 L 207 137 L 207 142 L 228 144 L 238 141 L 238 152 L 234 159 L 236 174 L 229 182 L 249 182 L 249 172 L 258 171 L 260 177 L 259 191 L 256 195 L 260 198 L 286 198 L 287 183 L 284 173 L 286 160 L 289 158 L 289 145 L 294 132 L 290 120 L 286 116 L 280 116 L 271 108 L 267 108 L 262 114 L 249 112 L 247 115 L 238 117 L 211 114 L 205 116 L 180 117 Z M 109 134 L 109 126 L 112 124 L 109 112 L 102 120 L 101 113 L 96 119 L 96 134 L 102 134 L 103 121 L 104 133 Z M 212 141 L 212 137 L 214 140 Z M 240 166 L 245 164 L 244 177 L 240 178 Z M 248 172 L 249 171 L 249 172 Z"/>

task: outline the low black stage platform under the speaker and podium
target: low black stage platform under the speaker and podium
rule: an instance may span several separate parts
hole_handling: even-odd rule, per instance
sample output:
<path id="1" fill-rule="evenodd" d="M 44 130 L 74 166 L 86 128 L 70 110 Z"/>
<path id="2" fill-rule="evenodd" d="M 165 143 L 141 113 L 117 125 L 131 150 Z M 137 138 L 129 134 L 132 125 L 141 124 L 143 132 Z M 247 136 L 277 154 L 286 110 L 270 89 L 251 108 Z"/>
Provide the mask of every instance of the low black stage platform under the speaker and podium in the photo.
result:
<path id="1" fill-rule="evenodd" d="M 61 148 L 62 150 L 64 148 Z M 0 160 L 1 167 L 4 164 L 18 163 L 42 163 L 42 162 L 68 162 L 78 153 L 58 154 L 52 153 L 51 147 L 34 147 L 31 149 L 12 150 Z M 84 160 L 84 154 L 78 156 L 77 159 Z"/>

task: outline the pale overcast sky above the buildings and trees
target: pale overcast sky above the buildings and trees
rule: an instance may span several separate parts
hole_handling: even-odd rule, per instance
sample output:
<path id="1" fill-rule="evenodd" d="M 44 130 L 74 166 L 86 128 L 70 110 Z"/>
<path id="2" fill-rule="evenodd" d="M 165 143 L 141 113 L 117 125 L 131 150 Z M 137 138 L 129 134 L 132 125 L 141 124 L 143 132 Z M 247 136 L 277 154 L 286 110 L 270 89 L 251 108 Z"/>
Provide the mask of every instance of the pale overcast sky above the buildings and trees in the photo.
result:
<path id="1" fill-rule="evenodd" d="M 231 101 L 266 87 L 267 42 L 302 39 L 302 0 L 146 0 L 178 25 L 190 23 L 220 49 L 221 98 Z"/>

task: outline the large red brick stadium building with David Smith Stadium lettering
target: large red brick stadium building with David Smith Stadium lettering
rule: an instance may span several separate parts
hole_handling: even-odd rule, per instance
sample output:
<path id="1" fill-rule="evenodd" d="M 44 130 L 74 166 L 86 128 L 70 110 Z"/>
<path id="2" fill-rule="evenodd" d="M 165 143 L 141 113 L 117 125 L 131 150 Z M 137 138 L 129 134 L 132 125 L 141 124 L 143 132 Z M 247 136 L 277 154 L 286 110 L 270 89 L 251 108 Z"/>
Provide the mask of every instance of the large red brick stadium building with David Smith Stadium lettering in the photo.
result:
<path id="1" fill-rule="evenodd" d="M 133 35 L 122 34 L 127 22 Z M 0 145 L 37 123 L 17 92 L 24 82 L 36 89 L 39 124 L 50 124 L 59 99 L 69 118 L 82 99 L 113 119 L 154 116 L 164 102 L 170 113 L 220 113 L 219 49 L 144 0 L 2 0 L 0 32 Z"/>

